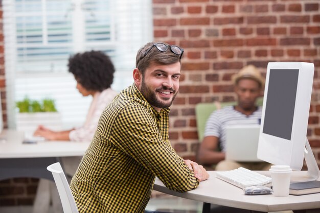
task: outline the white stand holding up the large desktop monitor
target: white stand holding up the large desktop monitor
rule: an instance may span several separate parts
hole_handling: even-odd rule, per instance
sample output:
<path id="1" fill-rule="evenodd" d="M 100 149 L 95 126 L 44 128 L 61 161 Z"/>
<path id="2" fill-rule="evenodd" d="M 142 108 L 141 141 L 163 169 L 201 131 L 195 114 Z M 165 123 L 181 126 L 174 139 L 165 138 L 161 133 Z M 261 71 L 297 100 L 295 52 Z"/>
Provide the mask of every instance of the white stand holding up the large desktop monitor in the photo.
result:
<path id="1" fill-rule="evenodd" d="M 299 175 L 292 175 L 290 182 L 306 182 L 316 180 L 319 177 L 319 168 L 318 164 L 314 158 L 312 153 L 310 144 L 308 139 L 306 138 L 306 147 L 305 147 L 305 154 L 304 158 L 307 164 L 307 171 L 303 171 L 303 174 Z"/>

